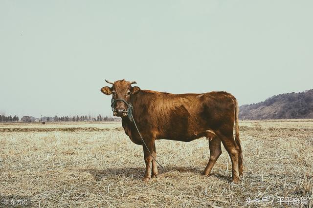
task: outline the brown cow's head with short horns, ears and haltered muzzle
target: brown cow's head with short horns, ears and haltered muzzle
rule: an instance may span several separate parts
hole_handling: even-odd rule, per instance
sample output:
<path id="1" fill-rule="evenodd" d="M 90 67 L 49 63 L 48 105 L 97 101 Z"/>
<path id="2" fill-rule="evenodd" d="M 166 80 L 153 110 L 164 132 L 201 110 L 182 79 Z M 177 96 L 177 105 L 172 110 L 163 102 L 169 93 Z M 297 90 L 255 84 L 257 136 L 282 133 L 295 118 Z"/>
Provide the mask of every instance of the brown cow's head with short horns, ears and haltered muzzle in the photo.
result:
<path id="1" fill-rule="evenodd" d="M 112 87 L 105 86 L 101 88 L 101 92 L 106 95 L 112 94 L 112 99 L 123 99 L 127 103 L 131 103 L 131 97 L 135 93 L 137 93 L 140 88 L 137 86 L 132 86 L 136 82 L 127 82 L 125 80 L 118 80 L 116 82 L 110 82 L 106 80 L 107 83 L 112 84 Z M 116 101 L 114 103 L 113 108 L 113 116 L 125 117 L 127 116 L 128 106 L 123 101 Z"/>

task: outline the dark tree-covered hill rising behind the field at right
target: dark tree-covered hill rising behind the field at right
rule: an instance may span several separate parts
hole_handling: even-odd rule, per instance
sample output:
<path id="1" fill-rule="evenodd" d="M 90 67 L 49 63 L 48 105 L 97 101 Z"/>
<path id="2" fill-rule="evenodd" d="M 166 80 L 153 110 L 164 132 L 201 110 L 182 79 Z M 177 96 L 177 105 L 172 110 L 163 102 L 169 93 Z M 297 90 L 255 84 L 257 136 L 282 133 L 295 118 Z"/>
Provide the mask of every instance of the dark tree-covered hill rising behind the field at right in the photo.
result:
<path id="1" fill-rule="evenodd" d="M 313 119 L 313 89 L 275 95 L 257 104 L 240 106 L 240 119 Z"/>

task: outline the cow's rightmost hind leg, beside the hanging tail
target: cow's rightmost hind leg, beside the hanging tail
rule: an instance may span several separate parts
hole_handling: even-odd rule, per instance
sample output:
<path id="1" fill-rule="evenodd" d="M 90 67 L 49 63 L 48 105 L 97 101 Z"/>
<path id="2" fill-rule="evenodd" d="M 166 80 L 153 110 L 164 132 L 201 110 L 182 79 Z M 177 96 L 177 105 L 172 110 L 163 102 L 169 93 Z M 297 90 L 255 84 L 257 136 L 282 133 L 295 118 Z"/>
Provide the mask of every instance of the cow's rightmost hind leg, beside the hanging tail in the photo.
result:
<path id="1" fill-rule="evenodd" d="M 233 133 L 229 133 L 228 136 L 225 136 L 224 134 L 219 134 L 219 137 L 228 152 L 230 159 L 231 159 L 231 165 L 232 165 L 232 182 L 235 184 L 239 183 L 239 147 L 236 145 L 236 142 L 234 140 Z"/>

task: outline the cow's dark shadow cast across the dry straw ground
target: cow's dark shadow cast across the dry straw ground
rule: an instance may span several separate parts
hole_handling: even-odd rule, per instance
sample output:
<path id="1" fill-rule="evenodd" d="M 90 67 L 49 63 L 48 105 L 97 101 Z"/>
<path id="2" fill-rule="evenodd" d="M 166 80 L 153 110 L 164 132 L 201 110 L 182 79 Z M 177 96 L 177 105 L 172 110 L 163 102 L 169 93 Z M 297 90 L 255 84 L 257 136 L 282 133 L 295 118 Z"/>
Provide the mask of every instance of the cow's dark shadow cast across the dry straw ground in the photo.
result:
<path id="1" fill-rule="evenodd" d="M 188 177 L 188 176 L 198 176 L 198 177 L 207 177 L 208 179 L 211 177 L 216 177 L 221 180 L 230 181 L 230 177 L 220 175 L 220 174 L 210 174 L 209 176 L 202 176 L 202 168 L 197 167 L 186 167 L 186 166 L 171 166 L 165 167 L 171 172 L 174 172 L 175 177 Z M 106 179 L 109 177 L 123 177 L 123 178 L 130 178 L 133 180 L 141 180 L 144 176 L 145 168 L 144 167 L 109 167 L 106 169 L 81 169 L 81 172 L 88 172 L 90 173 L 96 181 L 101 181 L 102 179 Z M 189 174 L 188 174 L 189 173 Z M 169 173 L 167 170 L 158 167 L 158 176 L 164 177 L 172 177 L 172 174 Z"/>

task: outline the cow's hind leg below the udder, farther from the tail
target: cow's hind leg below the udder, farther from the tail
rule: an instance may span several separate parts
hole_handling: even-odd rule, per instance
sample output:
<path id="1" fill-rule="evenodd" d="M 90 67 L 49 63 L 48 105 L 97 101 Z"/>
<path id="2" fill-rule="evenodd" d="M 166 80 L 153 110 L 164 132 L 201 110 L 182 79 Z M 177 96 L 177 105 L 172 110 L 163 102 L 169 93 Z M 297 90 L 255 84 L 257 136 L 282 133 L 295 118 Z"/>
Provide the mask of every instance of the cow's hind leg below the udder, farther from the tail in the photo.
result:
<path id="1" fill-rule="evenodd" d="M 217 159 L 222 154 L 221 149 L 221 140 L 218 137 L 215 137 L 213 140 L 209 141 L 209 147 L 210 147 L 210 160 L 205 167 L 202 175 L 209 175 L 214 164 L 216 163 Z"/>

